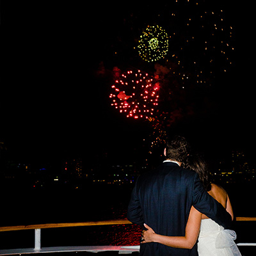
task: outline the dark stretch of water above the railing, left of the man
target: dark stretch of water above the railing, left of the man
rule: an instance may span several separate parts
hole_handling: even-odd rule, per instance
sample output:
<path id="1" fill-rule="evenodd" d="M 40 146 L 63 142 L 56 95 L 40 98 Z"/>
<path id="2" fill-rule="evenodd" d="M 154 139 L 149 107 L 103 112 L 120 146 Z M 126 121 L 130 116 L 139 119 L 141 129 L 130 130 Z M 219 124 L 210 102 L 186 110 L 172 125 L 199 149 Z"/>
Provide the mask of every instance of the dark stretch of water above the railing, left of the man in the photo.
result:
<path id="1" fill-rule="evenodd" d="M 0 226 L 113 220 L 126 217 L 131 186 L 2 192 Z"/>

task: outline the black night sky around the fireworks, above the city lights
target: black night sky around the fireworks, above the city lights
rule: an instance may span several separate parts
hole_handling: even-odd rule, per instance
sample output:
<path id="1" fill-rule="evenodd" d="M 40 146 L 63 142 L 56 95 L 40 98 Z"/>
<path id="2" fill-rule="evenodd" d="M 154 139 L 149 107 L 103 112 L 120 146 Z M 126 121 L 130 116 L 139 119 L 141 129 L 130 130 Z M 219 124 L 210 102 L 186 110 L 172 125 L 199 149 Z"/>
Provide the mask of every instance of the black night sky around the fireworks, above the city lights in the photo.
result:
<path id="1" fill-rule="evenodd" d="M 109 93 L 114 67 L 141 68 L 154 75 L 154 65 L 141 60 L 134 47 L 148 24 L 159 23 L 170 33 L 167 2 L 2 3 L 0 141 L 10 156 L 21 161 L 92 161 L 95 154 L 125 159 L 147 151 L 150 125 L 116 111 Z M 193 113 L 178 118 L 168 131 L 184 134 L 212 158 L 241 149 L 253 159 L 252 3 L 214 3 L 208 10 L 223 9 L 225 25 L 233 28 L 232 65 L 218 72 L 211 86 L 189 87 L 190 91 L 185 86 L 187 101 L 179 107 L 193 103 Z"/>

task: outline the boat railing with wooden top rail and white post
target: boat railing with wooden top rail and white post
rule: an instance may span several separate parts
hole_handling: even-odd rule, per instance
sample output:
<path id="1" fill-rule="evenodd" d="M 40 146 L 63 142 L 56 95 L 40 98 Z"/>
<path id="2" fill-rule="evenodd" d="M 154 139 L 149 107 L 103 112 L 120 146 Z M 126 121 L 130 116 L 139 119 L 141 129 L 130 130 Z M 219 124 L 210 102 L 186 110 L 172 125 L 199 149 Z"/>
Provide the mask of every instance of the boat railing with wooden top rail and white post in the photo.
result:
<path id="1" fill-rule="evenodd" d="M 256 218 L 237 217 L 236 221 L 256 221 Z M 0 250 L 0 255 L 21 255 L 28 253 L 47 253 L 47 252 L 105 252 L 118 251 L 119 254 L 138 252 L 140 246 L 63 246 L 63 247 L 41 247 L 42 228 L 61 228 L 61 227 L 89 227 L 102 225 L 128 225 L 132 224 L 128 220 L 106 220 L 106 221 L 87 221 L 77 223 L 49 223 L 39 225 L 20 225 L 10 227 L 0 227 L 0 232 L 16 230 L 35 230 L 35 248 L 8 249 Z M 256 243 L 237 243 L 237 246 L 256 246 Z"/>

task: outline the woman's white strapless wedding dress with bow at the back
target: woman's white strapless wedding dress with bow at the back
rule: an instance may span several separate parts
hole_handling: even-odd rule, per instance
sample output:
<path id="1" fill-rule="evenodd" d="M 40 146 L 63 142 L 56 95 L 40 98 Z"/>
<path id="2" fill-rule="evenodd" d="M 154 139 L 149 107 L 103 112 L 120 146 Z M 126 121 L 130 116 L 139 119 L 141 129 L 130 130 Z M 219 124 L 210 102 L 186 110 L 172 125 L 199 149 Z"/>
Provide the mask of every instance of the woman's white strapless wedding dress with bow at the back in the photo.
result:
<path id="1" fill-rule="evenodd" d="M 198 237 L 199 256 L 241 256 L 236 243 L 236 232 L 224 229 L 211 219 L 201 221 Z"/>

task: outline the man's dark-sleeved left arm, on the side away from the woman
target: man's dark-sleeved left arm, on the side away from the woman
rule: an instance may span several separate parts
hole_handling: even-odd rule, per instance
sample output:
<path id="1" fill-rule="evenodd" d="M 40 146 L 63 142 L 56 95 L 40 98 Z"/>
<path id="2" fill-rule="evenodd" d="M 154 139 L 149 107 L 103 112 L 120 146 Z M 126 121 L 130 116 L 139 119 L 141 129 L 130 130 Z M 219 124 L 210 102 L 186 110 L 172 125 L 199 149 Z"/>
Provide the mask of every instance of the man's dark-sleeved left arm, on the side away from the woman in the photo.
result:
<path id="1" fill-rule="evenodd" d="M 136 191 L 137 184 L 138 184 L 138 180 L 136 181 L 135 187 L 132 190 L 131 200 L 128 205 L 127 219 L 134 224 L 143 226 L 144 218 L 143 218 L 140 201 L 138 199 L 138 195 L 137 195 L 137 191 Z"/>

